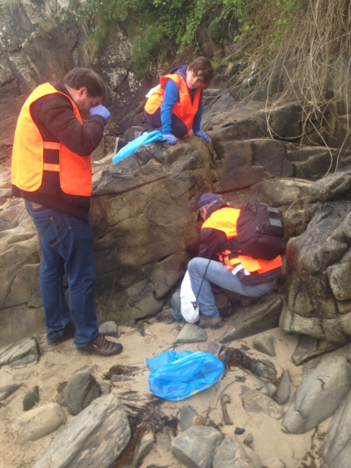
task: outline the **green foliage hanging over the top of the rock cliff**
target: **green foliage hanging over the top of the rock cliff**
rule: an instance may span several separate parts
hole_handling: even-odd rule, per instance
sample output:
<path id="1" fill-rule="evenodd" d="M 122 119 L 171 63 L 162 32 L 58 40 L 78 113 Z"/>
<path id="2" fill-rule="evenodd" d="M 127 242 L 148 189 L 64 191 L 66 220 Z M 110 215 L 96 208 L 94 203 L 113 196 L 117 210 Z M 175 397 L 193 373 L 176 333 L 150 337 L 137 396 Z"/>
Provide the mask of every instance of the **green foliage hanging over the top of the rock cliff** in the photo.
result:
<path id="1" fill-rule="evenodd" d="M 42 1 L 42 0 L 37 0 Z M 298 0 L 87 0 L 78 7 L 76 21 L 119 22 L 139 31 L 133 44 L 134 65 L 144 75 L 152 58 L 165 55 L 165 41 L 173 41 L 179 52 L 196 46 L 196 32 L 210 22 L 208 32 L 216 41 L 234 41 L 242 35 L 260 34 L 263 19 L 270 22 L 270 47 L 279 45 Z M 235 30 L 233 32 L 233 25 Z M 232 28 L 232 30 L 230 29 Z M 262 27 L 264 30 L 266 28 Z M 272 32 L 273 30 L 273 32 Z M 233 37 L 234 36 L 234 37 Z M 165 47 L 165 49 L 164 49 Z"/>

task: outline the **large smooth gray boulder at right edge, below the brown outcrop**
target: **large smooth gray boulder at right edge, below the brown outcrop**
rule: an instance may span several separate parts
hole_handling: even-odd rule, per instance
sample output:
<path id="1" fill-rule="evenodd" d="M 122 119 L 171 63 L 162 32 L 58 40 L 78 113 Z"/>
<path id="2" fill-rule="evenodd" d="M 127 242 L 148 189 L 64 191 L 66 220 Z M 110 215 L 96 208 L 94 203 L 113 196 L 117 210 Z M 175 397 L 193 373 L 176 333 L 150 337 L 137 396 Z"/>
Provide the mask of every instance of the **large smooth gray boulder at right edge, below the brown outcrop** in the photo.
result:
<path id="1" fill-rule="evenodd" d="M 309 361 L 283 426 L 294 434 L 303 434 L 316 427 L 334 413 L 350 385 L 351 364 L 345 355 L 336 351 Z"/>

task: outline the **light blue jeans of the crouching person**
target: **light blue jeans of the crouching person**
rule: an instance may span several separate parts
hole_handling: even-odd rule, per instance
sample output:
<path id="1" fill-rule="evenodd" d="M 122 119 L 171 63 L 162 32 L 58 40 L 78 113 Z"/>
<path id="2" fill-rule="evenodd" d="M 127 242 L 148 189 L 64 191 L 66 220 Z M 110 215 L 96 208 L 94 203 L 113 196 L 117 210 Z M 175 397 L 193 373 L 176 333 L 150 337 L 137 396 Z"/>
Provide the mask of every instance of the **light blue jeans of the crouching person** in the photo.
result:
<path id="1" fill-rule="evenodd" d="M 270 291 L 274 286 L 274 279 L 257 286 L 245 286 L 245 284 L 240 282 L 236 275 L 228 271 L 226 265 L 223 265 L 223 263 L 216 262 L 214 260 L 210 261 L 206 271 L 206 276 L 204 278 L 205 270 L 208 264 L 209 260 L 207 258 L 200 257 L 193 258 L 188 263 L 188 271 L 192 283 L 192 289 L 195 296 L 198 297 L 200 314 L 205 317 L 215 317 L 219 314 L 215 296 L 212 292 L 211 283 L 217 284 L 217 286 L 221 286 L 225 289 L 228 289 L 229 291 L 238 292 L 243 296 L 250 297 L 263 296 L 263 294 L 266 294 L 266 292 Z M 204 281 L 202 283 L 203 278 Z"/>

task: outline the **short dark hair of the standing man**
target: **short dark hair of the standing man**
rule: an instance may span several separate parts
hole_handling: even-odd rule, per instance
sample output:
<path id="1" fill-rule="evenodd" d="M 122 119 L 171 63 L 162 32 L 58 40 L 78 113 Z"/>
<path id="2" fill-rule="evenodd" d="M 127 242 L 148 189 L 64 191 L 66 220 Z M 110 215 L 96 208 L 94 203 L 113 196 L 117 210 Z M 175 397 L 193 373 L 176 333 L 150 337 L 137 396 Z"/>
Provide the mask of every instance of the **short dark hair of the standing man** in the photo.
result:
<path id="1" fill-rule="evenodd" d="M 106 100 L 107 91 L 100 75 L 91 68 L 73 68 L 63 79 L 63 83 L 70 88 L 80 89 L 86 86 L 90 97 L 102 96 Z"/>

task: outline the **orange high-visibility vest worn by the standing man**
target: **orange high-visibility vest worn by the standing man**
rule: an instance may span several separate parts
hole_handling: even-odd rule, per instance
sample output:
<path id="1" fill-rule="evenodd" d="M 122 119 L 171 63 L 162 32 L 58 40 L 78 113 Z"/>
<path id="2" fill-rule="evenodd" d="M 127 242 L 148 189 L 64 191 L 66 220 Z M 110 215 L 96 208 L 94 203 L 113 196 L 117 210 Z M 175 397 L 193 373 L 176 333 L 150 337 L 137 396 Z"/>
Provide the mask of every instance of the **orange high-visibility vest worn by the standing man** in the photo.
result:
<path id="1" fill-rule="evenodd" d="M 43 96 L 60 93 L 50 83 L 38 86 L 24 103 L 17 121 L 12 153 L 11 183 L 26 192 L 35 192 L 42 185 L 44 171 L 60 174 L 63 192 L 69 195 L 90 197 L 91 161 L 90 156 L 79 156 L 60 142 L 43 141 L 37 125 L 34 123 L 30 106 Z M 76 103 L 69 98 L 77 119 L 83 123 Z M 60 154 L 59 164 L 45 162 L 45 149 L 57 149 Z"/>

